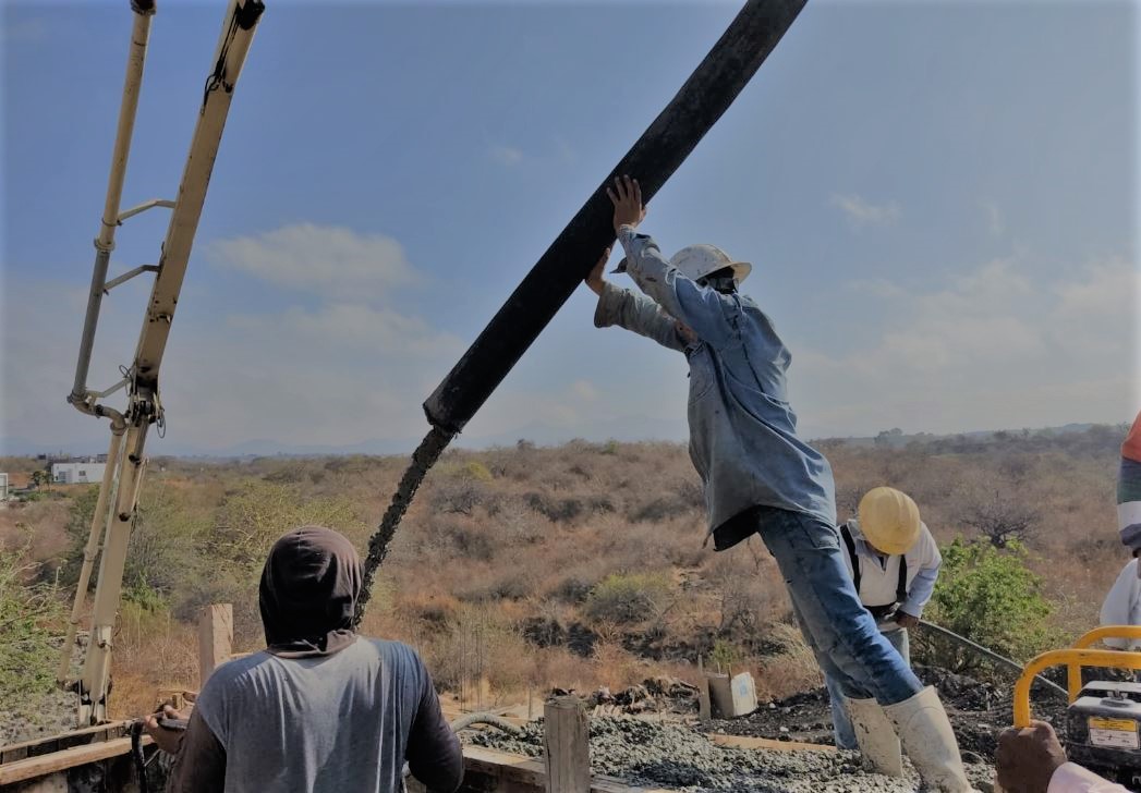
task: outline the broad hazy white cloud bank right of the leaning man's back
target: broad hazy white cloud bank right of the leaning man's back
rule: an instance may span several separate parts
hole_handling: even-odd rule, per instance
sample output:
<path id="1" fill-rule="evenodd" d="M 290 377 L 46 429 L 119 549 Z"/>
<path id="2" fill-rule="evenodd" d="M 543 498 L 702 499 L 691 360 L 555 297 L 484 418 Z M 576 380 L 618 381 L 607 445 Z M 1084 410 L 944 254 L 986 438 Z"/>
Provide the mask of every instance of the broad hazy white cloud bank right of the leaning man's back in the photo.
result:
<path id="1" fill-rule="evenodd" d="M 1049 282 L 1025 258 L 997 259 L 942 289 L 881 290 L 864 347 L 790 340 L 793 404 L 809 436 L 1124 421 L 1141 397 L 1139 294 L 1119 258 Z"/>

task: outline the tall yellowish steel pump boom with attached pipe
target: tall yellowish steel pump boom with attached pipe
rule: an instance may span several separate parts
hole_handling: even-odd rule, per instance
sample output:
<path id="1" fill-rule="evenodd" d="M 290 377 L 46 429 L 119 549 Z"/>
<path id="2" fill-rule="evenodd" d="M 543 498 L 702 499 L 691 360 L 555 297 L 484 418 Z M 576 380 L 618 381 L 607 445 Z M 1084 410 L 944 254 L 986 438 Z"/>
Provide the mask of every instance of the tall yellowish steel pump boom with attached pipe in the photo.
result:
<path id="1" fill-rule="evenodd" d="M 119 113 L 119 129 L 115 135 L 103 220 L 99 235 L 95 240 L 95 268 L 80 341 L 79 362 L 75 367 L 75 385 L 67 396 L 67 402 L 79 411 L 111 421 L 107 467 L 99 487 L 95 516 L 91 519 L 91 533 L 83 551 L 83 566 L 75 590 L 68 637 L 56 674 L 60 686 L 73 688 L 80 695 L 78 714 L 80 726 L 98 723 L 105 721 L 107 717 L 106 698 L 110 690 L 113 630 L 119 612 L 127 543 L 146 467 L 144 446 L 151 424 L 161 426 L 163 420 L 162 402 L 159 397 L 159 367 L 167 348 L 167 338 L 178 305 L 178 293 L 186 275 L 194 234 L 205 202 L 207 187 L 210 184 L 215 157 L 218 155 L 234 87 L 264 9 L 261 0 L 228 0 L 221 35 L 209 64 L 205 90 L 191 140 L 191 151 L 183 170 L 183 179 L 178 186 L 177 200 L 151 200 L 122 210 L 120 200 L 123 178 L 143 83 L 151 19 L 155 13 L 154 0 L 131 0 L 135 23 Z M 155 207 L 172 210 L 157 266 L 137 267 L 107 281 L 107 266 L 111 251 L 115 246 L 116 228 L 123 220 Z M 87 378 L 103 297 L 129 278 L 148 272 L 155 273 L 155 278 L 133 361 L 119 383 L 104 391 L 94 391 L 88 388 Z M 124 387 L 127 406 L 122 411 L 99 402 Z M 99 572 L 91 610 L 90 640 L 83 672 L 79 680 L 73 681 L 68 679 L 72 648 L 76 629 L 82 620 L 84 598 L 96 557 L 99 557 Z"/>

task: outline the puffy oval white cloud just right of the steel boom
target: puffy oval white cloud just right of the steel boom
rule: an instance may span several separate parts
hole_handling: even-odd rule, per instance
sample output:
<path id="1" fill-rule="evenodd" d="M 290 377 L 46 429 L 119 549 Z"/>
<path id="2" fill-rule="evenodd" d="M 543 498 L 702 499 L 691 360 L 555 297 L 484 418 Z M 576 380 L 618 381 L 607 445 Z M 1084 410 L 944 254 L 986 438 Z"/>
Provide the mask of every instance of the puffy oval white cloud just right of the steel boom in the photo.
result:
<path id="1" fill-rule="evenodd" d="M 399 242 L 337 226 L 284 226 L 219 240 L 208 250 L 225 267 L 317 294 L 380 298 L 418 281 Z"/>

